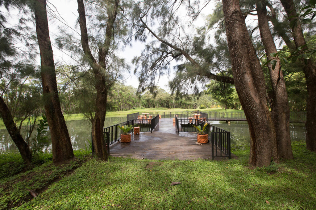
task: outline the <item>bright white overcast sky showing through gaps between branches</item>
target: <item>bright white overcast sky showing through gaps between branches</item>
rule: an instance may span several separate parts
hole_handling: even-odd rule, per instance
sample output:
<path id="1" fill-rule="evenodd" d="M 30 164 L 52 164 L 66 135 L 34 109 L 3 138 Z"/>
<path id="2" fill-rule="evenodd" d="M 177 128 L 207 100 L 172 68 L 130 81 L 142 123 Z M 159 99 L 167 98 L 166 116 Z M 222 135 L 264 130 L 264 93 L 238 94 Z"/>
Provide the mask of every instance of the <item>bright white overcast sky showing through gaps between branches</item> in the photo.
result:
<path id="1" fill-rule="evenodd" d="M 75 28 L 76 20 L 78 17 L 77 12 L 77 2 L 74 0 L 51 0 L 49 1 L 54 5 L 56 10 L 58 11 L 59 15 L 64 19 L 63 21 L 66 22 L 66 24 L 72 28 Z M 202 13 L 199 15 L 199 18 L 195 21 L 195 26 L 203 26 L 205 23 L 205 15 L 208 15 L 212 12 L 212 8 L 214 3 L 209 3 L 207 7 L 205 7 L 202 11 Z M 55 8 L 52 7 L 51 4 L 48 3 L 48 6 L 55 10 Z M 181 12 L 181 11 L 180 11 Z M 186 13 L 186 11 L 182 11 L 183 13 Z M 64 26 L 64 23 L 53 20 L 52 18 L 49 18 L 49 29 L 50 29 L 50 36 L 53 46 L 53 53 L 54 53 L 54 60 L 56 61 L 64 61 L 67 64 L 74 64 L 74 61 L 70 58 L 69 55 L 66 55 L 64 52 L 58 50 L 56 48 L 55 38 L 58 35 L 58 25 Z M 194 27 L 191 26 L 191 31 L 194 31 Z M 78 28 L 75 29 L 77 32 L 80 32 Z M 124 51 L 120 52 L 120 55 L 125 58 L 125 61 L 128 62 L 131 66 L 131 73 L 125 73 L 125 84 L 126 85 L 132 85 L 133 87 L 138 87 L 138 79 L 133 74 L 134 66 L 131 63 L 131 60 L 135 57 L 141 54 L 141 51 L 143 50 L 145 44 L 140 42 L 134 42 L 132 44 L 132 47 L 126 47 Z M 176 65 L 175 62 L 172 63 L 172 65 Z M 165 89 L 169 90 L 168 87 L 168 81 L 172 79 L 174 76 L 173 66 L 171 66 L 171 74 L 170 76 L 164 75 L 160 78 L 158 85 Z"/>

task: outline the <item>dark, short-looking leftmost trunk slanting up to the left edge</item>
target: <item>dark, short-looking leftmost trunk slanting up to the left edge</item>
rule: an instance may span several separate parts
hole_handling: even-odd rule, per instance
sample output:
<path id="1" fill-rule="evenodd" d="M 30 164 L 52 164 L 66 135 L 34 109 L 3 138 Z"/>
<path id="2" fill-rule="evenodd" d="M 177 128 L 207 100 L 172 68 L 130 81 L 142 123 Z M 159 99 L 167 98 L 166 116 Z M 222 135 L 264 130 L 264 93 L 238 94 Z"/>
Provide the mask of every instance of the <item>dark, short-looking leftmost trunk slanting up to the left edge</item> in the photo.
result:
<path id="1" fill-rule="evenodd" d="M 30 151 L 30 148 L 28 147 L 27 143 L 24 141 L 19 130 L 17 129 L 11 112 L 5 104 L 5 102 L 3 101 L 2 97 L 0 97 L 0 115 L 2 117 L 5 127 L 7 128 L 10 134 L 10 137 L 12 138 L 16 147 L 19 149 L 23 161 L 27 164 L 30 164 L 32 161 L 32 153 Z"/>

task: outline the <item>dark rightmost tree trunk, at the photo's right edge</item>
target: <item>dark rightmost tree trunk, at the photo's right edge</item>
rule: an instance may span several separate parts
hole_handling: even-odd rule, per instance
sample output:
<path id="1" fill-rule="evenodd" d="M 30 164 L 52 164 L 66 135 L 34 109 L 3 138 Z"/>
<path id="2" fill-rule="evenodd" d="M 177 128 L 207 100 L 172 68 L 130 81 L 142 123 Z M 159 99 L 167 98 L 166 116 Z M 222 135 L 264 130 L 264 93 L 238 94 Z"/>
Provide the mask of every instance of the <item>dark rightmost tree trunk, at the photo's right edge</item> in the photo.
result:
<path id="1" fill-rule="evenodd" d="M 296 16 L 293 0 L 281 0 L 281 3 L 288 17 L 291 17 L 289 18 L 290 23 L 296 22 L 292 27 L 296 48 L 301 47 L 301 52 L 307 50 L 303 29 Z M 312 59 L 304 60 L 304 58 L 300 59 L 307 86 L 306 146 L 307 149 L 316 152 L 316 65 Z"/>

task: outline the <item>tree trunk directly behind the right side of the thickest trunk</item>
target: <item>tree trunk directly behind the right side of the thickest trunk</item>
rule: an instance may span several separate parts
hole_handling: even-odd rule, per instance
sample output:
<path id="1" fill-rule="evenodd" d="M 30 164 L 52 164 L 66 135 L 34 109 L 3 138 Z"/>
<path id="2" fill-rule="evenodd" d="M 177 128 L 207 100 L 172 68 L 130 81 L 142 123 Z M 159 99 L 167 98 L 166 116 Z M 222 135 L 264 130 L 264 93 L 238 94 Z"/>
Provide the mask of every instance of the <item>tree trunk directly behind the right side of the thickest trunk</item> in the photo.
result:
<path id="1" fill-rule="evenodd" d="M 268 23 L 266 2 L 257 2 L 259 31 L 267 59 L 273 59 L 271 53 L 276 53 L 276 45 Z M 280 61 L 276 60 L 275 68 L 268 64 L 272 93 L 270 98 L 271 117 L 276 131 L 277 151 L 279 158 L 293 159 L 290 139 L 290 108 L 288 93 L 285 87 Z"/>

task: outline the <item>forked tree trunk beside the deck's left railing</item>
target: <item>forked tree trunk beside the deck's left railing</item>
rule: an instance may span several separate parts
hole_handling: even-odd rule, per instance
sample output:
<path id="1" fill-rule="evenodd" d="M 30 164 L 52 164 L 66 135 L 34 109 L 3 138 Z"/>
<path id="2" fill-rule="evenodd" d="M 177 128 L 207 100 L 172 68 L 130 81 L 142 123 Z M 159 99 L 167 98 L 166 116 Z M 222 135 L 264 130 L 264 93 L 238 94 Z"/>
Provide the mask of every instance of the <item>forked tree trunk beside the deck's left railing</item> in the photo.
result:
<path id="1" fill-rule="evenodd" d="M 109 48 L 112 42 L 113 24 L 116 19 L 119 0 L 113 1 L 114 7 L 111 11 L 108 11 L 108 20 L 106 26 L 106 35 L 103 46 L 99 47 L 99 58 L 98 61 L 94 58 L 89 48 L 87 23 L 85 15 L 85 7 L 83 0 L 77 0 L 78 3 L 78 14 L 79 14 L 79 25 L 81 31 L 81 44 L 83 52 L 86 58 L 89 60 L 90 66 L 92 67 L 94 78 L 96 81 L 96 110 L 95 116 L 92 120 L 92 141 L 94 143 L 94 153 L 101 160 L 106 160 L 108 157 L 106 150 L 106 143 L 104 141 L 104 120 L 106 116 L 106 97 L 107 90 L 109 88 L 109 82 L 106 78 L 104 71 L 107 68 L 106 56 L 108 55 Z M 103 72 L 102 72 L 103 71 Z"/>

